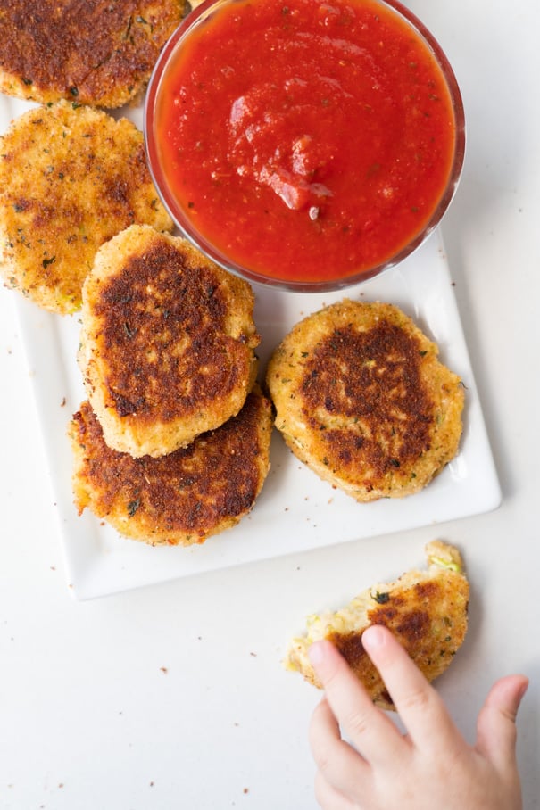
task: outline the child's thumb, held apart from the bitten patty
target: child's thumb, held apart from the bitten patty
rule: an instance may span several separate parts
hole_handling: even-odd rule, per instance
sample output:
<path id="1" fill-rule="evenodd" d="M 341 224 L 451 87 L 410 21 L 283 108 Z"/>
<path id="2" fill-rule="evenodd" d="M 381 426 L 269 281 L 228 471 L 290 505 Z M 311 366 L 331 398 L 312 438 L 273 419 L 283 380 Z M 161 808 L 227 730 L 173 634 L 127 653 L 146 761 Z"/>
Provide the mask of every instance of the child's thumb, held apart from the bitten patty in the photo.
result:
<path id="1" fill-rule="evenodd" d="M 524 675 L 508 675 L 492 686 L 478 715 L 477 750 L 498 770 L 515 760 L 516 716 L 528 689 Z"/>

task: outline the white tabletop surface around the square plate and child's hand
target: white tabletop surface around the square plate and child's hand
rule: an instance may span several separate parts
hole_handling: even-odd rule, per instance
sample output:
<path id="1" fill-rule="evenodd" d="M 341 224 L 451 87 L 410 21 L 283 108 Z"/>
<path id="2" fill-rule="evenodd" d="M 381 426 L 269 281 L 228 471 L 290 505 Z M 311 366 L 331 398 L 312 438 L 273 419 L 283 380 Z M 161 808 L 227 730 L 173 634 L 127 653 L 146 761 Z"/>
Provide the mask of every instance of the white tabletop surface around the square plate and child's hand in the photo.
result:
<path id="1" fill-rule="evenodd" d="M 469 634 L 438 682 L 461 730 L 501 674 L 519 716 L 525 807 L 540 808 L 540 108 L 532 0 L 409 0 L 453 62 L 468 120 L 444 220 L 502 506 L 436 527 L 471 581 Z M 77 602 L 14 317 L 0 289 L 0 810 L 314 810 L 307 724 L 287 674 L 317 608 L 420 565 L 431 527 Z"/>

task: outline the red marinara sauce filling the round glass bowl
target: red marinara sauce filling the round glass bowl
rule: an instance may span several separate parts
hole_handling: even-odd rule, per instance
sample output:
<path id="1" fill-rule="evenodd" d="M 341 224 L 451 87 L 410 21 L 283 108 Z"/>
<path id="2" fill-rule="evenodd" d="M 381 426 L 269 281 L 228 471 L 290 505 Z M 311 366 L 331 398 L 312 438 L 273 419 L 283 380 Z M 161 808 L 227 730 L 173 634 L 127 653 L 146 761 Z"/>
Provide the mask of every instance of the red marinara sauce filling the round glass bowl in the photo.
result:
<path id="1" fill-rule="evenodd" d="M 187 235 L 293 286 L 369 277 L 415 246 L 455 169 L 444 71 L 378 0 L 217 4 L 171 52 L 153 131 Z"/>

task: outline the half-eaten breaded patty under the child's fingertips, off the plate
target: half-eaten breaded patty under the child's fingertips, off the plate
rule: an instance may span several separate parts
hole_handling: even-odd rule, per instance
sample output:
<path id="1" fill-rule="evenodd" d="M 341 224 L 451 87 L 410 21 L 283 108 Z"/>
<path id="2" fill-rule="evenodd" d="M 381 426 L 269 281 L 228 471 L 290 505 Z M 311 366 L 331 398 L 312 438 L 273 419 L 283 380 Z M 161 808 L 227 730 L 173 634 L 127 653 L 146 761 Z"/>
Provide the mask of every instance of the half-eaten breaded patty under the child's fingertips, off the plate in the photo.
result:
<path id="1" fill-rule="evenodd" d="M 362 591 L 336 613 L 310 616 L 305 635 L 287 650 L 287 669 L 303 674 L 320 689 L 308 649 L 328 639 L 345 657 L 378 706 L 393 709 L 377 669 L 362 647 L 370 624 L 384 624 L 407 650 L 421 672 L 433 681 L 450 665 L 467 632 L 469 583 L 457 549 L 441 541 L 426 546 L 427 571 L 409 571 L 393 583 Z"/>

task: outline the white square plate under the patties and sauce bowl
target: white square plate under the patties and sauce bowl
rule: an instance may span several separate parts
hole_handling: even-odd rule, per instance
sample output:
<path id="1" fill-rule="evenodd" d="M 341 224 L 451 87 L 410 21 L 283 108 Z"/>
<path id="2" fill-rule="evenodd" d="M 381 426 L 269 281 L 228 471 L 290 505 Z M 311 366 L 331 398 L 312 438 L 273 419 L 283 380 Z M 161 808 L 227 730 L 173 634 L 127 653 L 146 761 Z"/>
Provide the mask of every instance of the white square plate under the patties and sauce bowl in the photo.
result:
<path id="1" fill-rule="evenodd" d="M 0 131 L 29 104 L 0 98 Z M 137 111 L 130 113 L 137 123 Z M 453 295 L 440 233 L 399 268 L 339 293 L 283 293 L 255 288 L 255 322 L 262 335 L 263 369 L 270 351 L 294 324 L 344 297 L 394 303 L 439 346 L 440 358 L 466 386 L 461 450 L 425 490 L 404 499 L 360 504 L 320 481 L 275 433 L 271 469 L 253 511 L 233 529 L 191 548 L 147 546 L 127 540 L 86 511 L 71 493 L 71 448 L 66 428 L 85 399 L 76 363 L 77 316 L 39 310 L 16 296 L 29 368 L 49 459 L 62 531 L 68 580 L 78 599 L 141 585 L 360 540 L 496 508 L 501 491 L 486 436 L 469 354 Z"/>

